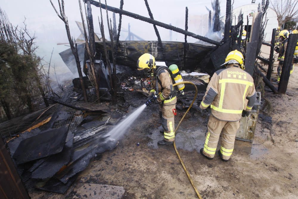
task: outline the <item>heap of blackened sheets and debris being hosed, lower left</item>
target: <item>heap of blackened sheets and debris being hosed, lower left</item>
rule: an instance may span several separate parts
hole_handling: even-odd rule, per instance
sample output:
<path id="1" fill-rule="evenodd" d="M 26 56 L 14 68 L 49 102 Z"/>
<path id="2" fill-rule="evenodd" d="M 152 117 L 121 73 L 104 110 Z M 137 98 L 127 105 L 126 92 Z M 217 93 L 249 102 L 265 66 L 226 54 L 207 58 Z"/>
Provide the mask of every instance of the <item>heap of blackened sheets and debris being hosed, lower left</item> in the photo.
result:
<path id="1" fill-rule="evenodd" d="M 55 104 L 31 114 L 35 122 L 22 128 L 5 123 L 1 135 L 28 188 L 65 193 L 92 158 L 117 146 L 107 134 L 113 124 L 106 112 L 74 108 Z"/>

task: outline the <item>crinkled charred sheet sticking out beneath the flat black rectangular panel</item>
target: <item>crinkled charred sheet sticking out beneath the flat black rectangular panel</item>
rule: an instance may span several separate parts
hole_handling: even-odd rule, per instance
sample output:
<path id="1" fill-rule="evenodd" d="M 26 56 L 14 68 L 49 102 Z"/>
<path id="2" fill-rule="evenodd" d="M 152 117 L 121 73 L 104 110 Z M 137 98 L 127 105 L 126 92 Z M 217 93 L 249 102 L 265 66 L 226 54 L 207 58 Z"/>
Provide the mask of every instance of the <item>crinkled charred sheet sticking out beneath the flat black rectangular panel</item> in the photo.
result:
<path id="1" fill-rule="evenodd" d="M 69 140 L 67 141 L 66 138 L 66 144 L 64 145 L 63 150 L 60 153 L 57 153 L 55 155 L 49 156 L 46 161 L 44 161 L 37 169 L 35 169 L 32 172 L 31 177 L 37 178 L 37 179 L 45 179 L 50 178 L 57 173 L 61 167 L 66 165 L 71 156 L 72 151 L 72 144 L 73 144 L 73 136 L 71 132 L 69 132 L 70 135 L 68 135 Z"/>

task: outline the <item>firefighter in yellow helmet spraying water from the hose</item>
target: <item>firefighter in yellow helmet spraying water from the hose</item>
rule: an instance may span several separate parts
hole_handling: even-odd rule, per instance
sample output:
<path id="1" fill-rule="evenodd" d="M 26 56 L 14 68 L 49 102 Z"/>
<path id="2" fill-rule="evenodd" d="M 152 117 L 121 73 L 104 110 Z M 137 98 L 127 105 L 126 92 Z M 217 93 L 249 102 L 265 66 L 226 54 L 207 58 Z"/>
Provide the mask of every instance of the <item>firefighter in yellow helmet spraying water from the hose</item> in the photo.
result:
<path id="1" fill-rule="evenodd" d="M 175 140 L 176 114 L 176 91 L 173 88 L 173 80 L 170 72 L 165 66 L 156 66 L 155 58 L 148 53 L 143 54 L 137 62 L 138 70 L 145 70 L 150 73 L 151 90 L 146 104 L 152 103 L 152 98 L 159 104 L 159 117 L 164 130 L 164 140 L 158 141 L 159 146 L 173 145 Z"/>

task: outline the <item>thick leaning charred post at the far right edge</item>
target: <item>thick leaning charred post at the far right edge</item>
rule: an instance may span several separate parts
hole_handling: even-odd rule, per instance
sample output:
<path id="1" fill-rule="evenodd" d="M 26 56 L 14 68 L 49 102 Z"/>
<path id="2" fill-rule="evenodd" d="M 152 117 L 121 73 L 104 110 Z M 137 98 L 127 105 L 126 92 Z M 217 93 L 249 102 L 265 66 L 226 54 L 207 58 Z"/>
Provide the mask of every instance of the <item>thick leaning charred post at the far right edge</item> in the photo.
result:
<path id="1" fill-rule="evenodd" d="M 288 38 L 288 45 L 285 51 L 285 61 L 280 75 L 280 83 L 278 84 L 278 93 L 285 94 L 290 77 L 290 70 L 293 61 L 293 54 L 298 40 L 298 34 L 290 34 Z"/>

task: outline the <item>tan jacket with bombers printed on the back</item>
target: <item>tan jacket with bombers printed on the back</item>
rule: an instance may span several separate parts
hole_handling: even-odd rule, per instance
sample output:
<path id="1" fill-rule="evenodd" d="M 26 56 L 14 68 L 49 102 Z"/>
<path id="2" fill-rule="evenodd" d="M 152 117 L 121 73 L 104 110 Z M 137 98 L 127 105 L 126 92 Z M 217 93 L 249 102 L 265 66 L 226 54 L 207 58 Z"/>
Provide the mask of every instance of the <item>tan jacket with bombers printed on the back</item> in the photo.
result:
<path id="1" fill-rule="evenodd" d="M 251 110 L 257 101 L 252 76 L 238 65 L 216 71 L 208 86 L 200 108 L 211 106 L 211 113 L 218 120 L 238 121 L 243 110 Z"/>

